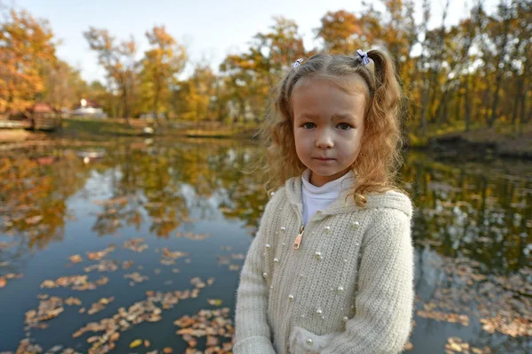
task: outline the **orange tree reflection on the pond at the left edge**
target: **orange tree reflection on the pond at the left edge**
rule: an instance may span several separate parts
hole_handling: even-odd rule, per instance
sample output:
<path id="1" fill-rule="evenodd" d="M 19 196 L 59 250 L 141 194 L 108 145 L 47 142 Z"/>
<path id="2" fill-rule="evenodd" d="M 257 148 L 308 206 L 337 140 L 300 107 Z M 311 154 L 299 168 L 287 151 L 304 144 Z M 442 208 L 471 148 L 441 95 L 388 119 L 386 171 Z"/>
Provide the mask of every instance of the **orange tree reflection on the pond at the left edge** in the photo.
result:
<path id="1" fill-rule="evenodd" d="M 0 158 L 0 231 L 31 248 L 62 240 L 66 198 L 82 188 L 87 172 L 68 150 L 17 150 Z"/>

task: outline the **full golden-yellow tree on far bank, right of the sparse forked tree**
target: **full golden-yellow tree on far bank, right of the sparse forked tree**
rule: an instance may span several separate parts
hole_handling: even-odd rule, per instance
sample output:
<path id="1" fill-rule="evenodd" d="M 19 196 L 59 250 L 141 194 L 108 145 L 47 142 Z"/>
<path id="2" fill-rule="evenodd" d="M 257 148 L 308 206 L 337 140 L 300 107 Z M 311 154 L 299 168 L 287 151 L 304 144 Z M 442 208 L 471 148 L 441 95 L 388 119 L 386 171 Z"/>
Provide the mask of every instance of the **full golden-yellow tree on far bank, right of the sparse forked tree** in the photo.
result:
<path id="1" fill-rule="evenodd" d="M 169 35 L 164 26 L 146 32 L 152 46 L 142 60 L 142 99 L 145 110 L 168 112 L 170 92 L 176 84 L 176 75 L 186 64 L 186 50 Z"/>

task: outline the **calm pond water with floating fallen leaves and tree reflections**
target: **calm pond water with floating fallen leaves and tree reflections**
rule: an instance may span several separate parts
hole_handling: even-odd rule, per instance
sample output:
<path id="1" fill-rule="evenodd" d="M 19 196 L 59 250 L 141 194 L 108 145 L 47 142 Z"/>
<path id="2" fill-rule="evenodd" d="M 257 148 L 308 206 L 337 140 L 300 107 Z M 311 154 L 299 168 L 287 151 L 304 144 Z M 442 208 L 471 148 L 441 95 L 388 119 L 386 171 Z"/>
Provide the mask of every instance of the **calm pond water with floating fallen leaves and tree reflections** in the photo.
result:
<path id="1" fill-rule="evenodd" d="M 3 151 L 0 352 L 230 352 L 239 271 L 267 202 L 260 176 L 242 173 L 256 149 Z M 416 207 L 407 352 L 532 352 L 532 163 L 405 161 Z"/>

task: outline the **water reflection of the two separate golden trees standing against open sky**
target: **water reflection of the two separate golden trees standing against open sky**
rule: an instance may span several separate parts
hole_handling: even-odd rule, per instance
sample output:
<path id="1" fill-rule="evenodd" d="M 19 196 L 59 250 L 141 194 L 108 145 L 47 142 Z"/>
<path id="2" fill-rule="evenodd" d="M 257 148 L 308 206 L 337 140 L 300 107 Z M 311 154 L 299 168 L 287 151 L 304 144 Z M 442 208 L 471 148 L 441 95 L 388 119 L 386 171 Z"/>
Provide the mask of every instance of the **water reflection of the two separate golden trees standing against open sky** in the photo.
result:
<path id="1" fill-rule="evenodd" d="M 188 210 L 180 194 L 180 183 L 173 176 L 176 151 L 164 148 L 131 149 L 128 144 L 109 150 L 106 161 L 111 176 L 111 198 L 102 202 L 93 227 L 99 235 L 113 234 L 121 227 L 143 222 L 142 207 L 155 235 L 168 236 Z"/>

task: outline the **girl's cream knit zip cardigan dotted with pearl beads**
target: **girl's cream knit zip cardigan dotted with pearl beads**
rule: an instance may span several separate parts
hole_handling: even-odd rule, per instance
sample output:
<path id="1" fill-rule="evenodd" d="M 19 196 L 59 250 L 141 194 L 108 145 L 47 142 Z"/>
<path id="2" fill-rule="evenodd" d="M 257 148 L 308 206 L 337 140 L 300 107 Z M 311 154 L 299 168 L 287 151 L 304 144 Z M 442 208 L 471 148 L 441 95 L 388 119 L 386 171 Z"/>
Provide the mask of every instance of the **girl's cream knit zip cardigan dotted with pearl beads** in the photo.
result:
<path id="1" fill-rule="evenodd" d="M 359 207 L 344 196 L 305 226 L 301 177 L 272 196 L 240 273 L 235 354 L 403 350 L 414 296 L 411 201 L 388 191 Z"/>

